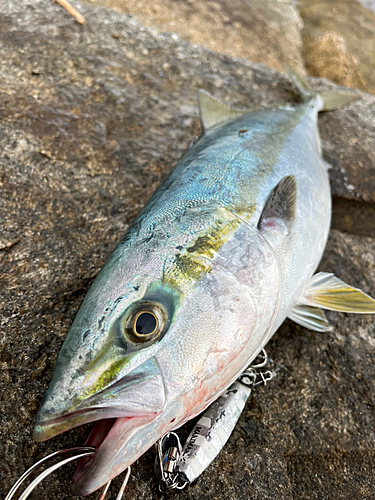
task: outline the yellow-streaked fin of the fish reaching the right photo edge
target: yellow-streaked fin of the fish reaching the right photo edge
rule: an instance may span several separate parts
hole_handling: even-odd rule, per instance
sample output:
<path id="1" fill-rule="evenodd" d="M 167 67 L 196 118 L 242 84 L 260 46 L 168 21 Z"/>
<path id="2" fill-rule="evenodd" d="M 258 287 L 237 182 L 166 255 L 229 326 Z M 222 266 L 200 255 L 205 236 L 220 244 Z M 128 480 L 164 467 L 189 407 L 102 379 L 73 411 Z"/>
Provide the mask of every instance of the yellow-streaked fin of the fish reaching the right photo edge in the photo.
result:
<path id="1" fill-rule="evenodd" d="M 373 298 L 329 273 L 318 273 L 311 278 L 299 305 L 321 307 L 331 311 L 375 314 Z"/>

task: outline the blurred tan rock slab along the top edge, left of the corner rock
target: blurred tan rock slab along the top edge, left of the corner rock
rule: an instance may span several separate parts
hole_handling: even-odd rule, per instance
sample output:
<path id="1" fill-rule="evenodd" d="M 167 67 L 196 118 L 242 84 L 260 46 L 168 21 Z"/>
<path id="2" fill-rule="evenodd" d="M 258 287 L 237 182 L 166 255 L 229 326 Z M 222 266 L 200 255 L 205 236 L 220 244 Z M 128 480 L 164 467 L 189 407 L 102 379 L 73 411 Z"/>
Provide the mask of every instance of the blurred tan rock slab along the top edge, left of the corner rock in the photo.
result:
<path id="1" fill-rule="evenodd" d="M 86 0 L 130 14 L 144 26 L 175 33 L 191 43 L 301 74 L 301 20 L 291 0 Z"/>

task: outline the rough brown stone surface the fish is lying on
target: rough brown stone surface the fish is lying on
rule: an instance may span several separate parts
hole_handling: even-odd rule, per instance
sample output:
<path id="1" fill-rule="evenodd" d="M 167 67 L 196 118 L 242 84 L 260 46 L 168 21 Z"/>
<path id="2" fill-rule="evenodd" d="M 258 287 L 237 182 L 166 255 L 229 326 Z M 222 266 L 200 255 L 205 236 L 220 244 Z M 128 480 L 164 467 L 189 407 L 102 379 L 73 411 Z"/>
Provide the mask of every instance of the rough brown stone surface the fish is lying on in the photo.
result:
<path id="1" fill-rule="evenodd" d="M 42 444 L 31 438 L 90 283 L 200 133 L 198 89 L 238 107 L 296 99 L 275 71 L 78 5 L 85 26 L 49 0 L 9 1 L 0 14 L 0 497 L 32 463 L 88 434 L 90 426 Z M 375 202 L 374 116 L 375 98 L 363 95 L 320 119 L 337 228 L 321 270 L 373 296 L 374 222 L 366 218 Z M 326 334 L 285 322 L 268 348 L 279 376 L 254 390 L 197 483 L 169 498 L 374 498 L 374 323 L 336 313 L 330 320 Z M 151 450 L 134 465 L 127 498 L 167 497 L 153 458 Z M 74 498 L 72 471 L 47 479 L 32 498 Z"/>

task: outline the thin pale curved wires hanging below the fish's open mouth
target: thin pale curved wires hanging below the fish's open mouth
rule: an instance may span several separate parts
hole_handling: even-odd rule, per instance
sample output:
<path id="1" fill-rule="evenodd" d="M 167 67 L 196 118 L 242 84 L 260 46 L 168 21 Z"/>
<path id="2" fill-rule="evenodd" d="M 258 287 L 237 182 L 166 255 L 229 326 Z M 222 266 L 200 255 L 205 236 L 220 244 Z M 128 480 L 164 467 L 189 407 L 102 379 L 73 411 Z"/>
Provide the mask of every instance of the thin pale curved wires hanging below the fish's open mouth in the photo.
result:
<path id="1" fill-rule="evenodd" d="M 12 488 L 9 490 L 9 492 L 8 492 L 8 494 L 7 494 L 7 496 L 5 497 L 4 500 L 11 500 L 14 497 L 14 494 L 16 493 L 16 491 L 18 490 L 18 488 L 25 481 L 25 479 L 34 470 L 36 470 L 40 465 L 42 465 L 44 462 L 46 462 L 50 458 L 57 457 L 59 455 L 65 455 L 66 453 L 71 453 L 71 452 L 82 452 L 82 453 L 80 453 L 79 455 L 75 455 L 73 457 L 65 458 L 61 462 L 58 462 L 57 464 L 52 465 L 51 467 L 49 467 L 45 471 L 41 472 L 39 474 L 39 476 L 37 476 L 34 479 L 34 481 L 32 483 L 30 483 L 29 486 L 25 489 L 25 491 L 19 497 L 19 500 L 26 500 L 29 497 L 30 493 L 34 490 L 34 488 L 36 488 L 36 486 L 38 486 L 38 484 L 41 481 L 43 481 L 43 479 L 45 479 L 47 476 L 49 476 L 50 474 L 52 474 L 52 472 L 54 472 L 55 470 L 59 469 L 63 465 L 66 465 L 66 464 L 68 464 L 70 462 L 73 462 L 74 460 L 79 460 L 80 458 L 92 455 L 93 453 L 95 453 L 95 448 L 93 446 L 76 446 L 74 448 L 68 448 L 66 450 L 55 451 L 55 452 L 51 453 L 50 455 L 48 455 L 47 457 L 42 458 L 41 460 L 39 460 L 39 462 L 37 462 L 36 464 L 34 464 L 33 466 L 31 466 L 29 469 L 27 469 L 26 472 L 24 472 L 22 474 L 22 476 L 14 483 L 14 485 L 12 486 Z M 126 471 L 125 478 L 124 478 L 124 481 L 123 481 L 123 483 L 121 485 L 121 488 L 120 488 L 120 490 L 119 490 L 119 492 L 117 494 L 116 500 L 121 500 L 122 497 L 123 497 L 126 485 L 128 483 L 129 477 L 130 477 L 130 472 L 131 472 L 130 466 L 128 466 L 125 469 L 125 471 Z M 105 498 L 105 496 L 106 496 L 106 494 L 108 492 L 108 488 L 109 488 L 110 484 L 111 484 L 111 480 L 109 480 L 108 483 L 105 485 L 104 491 L 102 493 L 102 496 L 100 497 L 100 500 L 104 500 L 104 498 Z"/>

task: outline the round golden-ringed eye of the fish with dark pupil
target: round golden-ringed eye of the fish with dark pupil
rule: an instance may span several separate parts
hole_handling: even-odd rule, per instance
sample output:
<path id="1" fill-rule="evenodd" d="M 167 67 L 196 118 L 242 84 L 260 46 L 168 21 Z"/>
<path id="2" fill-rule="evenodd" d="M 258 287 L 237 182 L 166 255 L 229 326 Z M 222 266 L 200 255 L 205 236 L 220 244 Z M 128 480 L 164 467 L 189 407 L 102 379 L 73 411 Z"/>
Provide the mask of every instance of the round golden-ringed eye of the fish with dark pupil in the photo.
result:
<path id="1" fill-rule="evenodd" d="M 123 331 L 133 344 L 159 339 L 168 326 L 167 313 L 161 304 L 141 301 L 125 314 Z"/>

